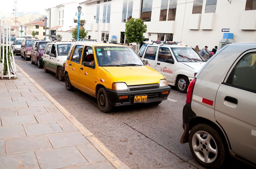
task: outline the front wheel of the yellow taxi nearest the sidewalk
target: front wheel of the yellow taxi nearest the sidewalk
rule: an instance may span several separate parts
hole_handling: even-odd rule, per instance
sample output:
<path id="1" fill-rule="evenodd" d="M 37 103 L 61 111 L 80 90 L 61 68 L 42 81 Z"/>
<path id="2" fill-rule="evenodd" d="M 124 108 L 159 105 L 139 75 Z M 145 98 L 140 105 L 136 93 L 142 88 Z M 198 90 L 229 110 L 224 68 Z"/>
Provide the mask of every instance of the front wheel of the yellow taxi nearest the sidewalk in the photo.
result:
<path id="1" fill-rule="evenodd" d="M 108 95 L 105 88 L 100 88 L 97 94 L 97 102 L 100 111 L 108 113 L 113 109 L 113 106 L 109 103 Z"/>

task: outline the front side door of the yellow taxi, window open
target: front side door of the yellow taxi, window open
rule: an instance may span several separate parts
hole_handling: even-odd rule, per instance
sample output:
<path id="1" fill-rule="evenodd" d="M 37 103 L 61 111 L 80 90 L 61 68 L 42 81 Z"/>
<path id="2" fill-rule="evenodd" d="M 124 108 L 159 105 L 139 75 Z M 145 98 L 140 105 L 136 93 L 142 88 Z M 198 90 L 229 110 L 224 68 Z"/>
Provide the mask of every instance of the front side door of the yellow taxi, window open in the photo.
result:
<path id="1" fill-rule="evenodd" d="M 85 46 L 84 51 L 92 51 L 91 46 Z M 86 67 L 83 65 L 84 62 L 89 62 L 90 59 L 94 58 L 94 65 L 93 67 Z M 83 90 L 91 93 L 92 95 L 95 95 L 95 72 L 96 72 L 96 66 L 97 65 L 97 60 L 95 57 L 95 53 L 89 54 L 88 52 L 83 53 L 83 58 L 82 58 L 82 64 L 80 65 L 80 70 L 79 70 L 79 83 L 80 86 Z"/>

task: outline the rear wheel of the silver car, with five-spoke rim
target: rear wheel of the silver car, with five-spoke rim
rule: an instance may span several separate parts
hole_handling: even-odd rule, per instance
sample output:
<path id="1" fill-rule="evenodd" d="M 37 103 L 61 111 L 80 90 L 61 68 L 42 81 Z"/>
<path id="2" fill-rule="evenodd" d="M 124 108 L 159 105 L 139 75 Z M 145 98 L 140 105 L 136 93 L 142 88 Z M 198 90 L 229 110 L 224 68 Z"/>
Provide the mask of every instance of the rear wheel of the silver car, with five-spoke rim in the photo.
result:
<path id="1" fill-rule="evenodd" d="M 205 168 L 224 164 L 226 148 L 218 132 L 207 124 L 197 124 L 189 133 L 189 148 L 196 161 Z"/>

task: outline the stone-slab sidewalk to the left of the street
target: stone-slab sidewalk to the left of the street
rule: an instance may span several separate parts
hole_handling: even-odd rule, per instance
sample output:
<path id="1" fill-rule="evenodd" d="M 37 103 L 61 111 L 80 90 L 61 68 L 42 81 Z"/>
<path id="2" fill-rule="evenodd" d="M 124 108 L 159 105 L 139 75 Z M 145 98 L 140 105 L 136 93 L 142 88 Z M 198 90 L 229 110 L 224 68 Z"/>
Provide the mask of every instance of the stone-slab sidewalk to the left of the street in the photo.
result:
<path id="1" fill-rule="evenodd" d="M 18 79 L 0 80 L 0 168 L 129 168 L 17 71 Z"/>

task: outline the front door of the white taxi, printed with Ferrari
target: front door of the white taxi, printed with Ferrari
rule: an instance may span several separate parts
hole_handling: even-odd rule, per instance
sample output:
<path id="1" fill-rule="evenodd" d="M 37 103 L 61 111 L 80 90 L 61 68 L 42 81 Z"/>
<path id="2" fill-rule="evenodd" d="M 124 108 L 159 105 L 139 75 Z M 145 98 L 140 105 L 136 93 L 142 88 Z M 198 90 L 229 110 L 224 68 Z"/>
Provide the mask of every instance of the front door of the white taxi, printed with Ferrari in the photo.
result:
<path id="1" fill-rule="evenodd" d="M 166 59 L 173 59 L 171 50 L 168 47 L 159 47 L 157 61 L 156 61 L 156 71 L 163 74 L 168 82 L 174 82 L 174 74 L 175 74 L 175 66 L 176 61 L 174 64 L 167 63 Z"/>

